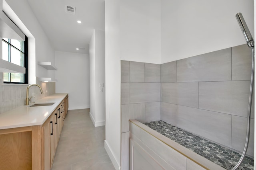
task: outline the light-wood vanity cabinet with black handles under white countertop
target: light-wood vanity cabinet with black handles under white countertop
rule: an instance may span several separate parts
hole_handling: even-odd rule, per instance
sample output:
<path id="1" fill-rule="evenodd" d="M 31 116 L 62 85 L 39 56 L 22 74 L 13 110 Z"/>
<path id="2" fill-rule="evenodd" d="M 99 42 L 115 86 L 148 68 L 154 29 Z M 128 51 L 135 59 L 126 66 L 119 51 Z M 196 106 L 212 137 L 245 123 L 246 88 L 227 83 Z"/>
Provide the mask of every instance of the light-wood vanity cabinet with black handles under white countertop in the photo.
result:
<path id="1" fill-rule="evenodd" d="M 0 170 L 52 168 L 64 124 L 65 99 L 42 125 L 0 130 Z"/>

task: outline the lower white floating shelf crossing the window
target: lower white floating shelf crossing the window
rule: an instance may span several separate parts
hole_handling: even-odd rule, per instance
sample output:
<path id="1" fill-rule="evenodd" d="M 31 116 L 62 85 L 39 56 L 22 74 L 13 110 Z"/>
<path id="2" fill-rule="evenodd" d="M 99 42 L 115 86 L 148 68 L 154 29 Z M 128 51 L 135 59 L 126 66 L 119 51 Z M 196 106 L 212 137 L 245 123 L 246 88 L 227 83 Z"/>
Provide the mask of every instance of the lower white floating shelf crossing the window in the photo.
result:
<path id="1" fill-rule="evenodd" d="M 0 59 L 0 72 L 25 73 L 26 68 Z"/>

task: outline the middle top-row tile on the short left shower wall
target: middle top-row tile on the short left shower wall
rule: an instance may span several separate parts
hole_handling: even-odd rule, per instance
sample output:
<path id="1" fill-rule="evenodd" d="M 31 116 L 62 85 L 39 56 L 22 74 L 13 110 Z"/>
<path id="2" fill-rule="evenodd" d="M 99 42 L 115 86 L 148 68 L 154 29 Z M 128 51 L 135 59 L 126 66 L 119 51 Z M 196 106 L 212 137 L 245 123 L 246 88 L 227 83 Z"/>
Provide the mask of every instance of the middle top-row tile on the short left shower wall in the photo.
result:
<path id="1" fill-rule="evenodd" d="M 145 82 L 145 63 L 130 61 L 130 82 Z"/>

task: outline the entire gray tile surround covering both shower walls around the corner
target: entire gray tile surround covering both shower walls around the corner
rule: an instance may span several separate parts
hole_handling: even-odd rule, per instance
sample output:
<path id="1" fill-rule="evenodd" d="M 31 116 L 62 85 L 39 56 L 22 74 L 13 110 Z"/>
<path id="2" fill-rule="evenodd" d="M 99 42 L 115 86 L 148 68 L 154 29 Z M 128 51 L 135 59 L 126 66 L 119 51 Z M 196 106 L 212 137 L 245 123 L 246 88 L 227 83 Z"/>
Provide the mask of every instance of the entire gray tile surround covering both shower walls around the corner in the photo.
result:
<path id="1" fill-rule="evenodd" d="M 242 151 L 252 51 L 247 45 L 164 64 L 121 61 L 122 133 L 128 120 L 163 120 Z M 254 150 L 254 96 L 248 155 Z"/>

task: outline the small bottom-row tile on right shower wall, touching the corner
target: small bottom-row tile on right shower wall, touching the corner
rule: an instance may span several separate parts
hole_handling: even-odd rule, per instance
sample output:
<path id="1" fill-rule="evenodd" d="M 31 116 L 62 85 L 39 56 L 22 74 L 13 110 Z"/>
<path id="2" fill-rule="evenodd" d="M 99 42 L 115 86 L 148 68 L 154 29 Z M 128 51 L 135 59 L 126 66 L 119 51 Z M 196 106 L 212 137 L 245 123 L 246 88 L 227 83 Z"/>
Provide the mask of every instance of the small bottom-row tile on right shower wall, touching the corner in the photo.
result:
<path id="1" fill-rule="evenodd" d="M 161 120 L 177 125 L 177 105 L 161 102 Z"/>

